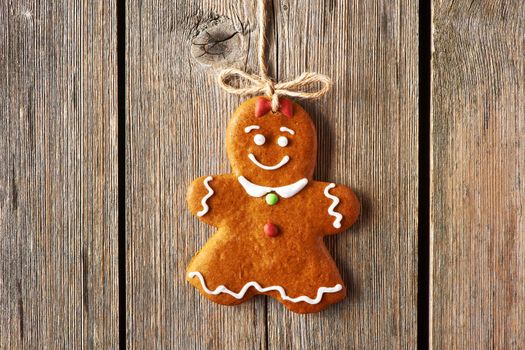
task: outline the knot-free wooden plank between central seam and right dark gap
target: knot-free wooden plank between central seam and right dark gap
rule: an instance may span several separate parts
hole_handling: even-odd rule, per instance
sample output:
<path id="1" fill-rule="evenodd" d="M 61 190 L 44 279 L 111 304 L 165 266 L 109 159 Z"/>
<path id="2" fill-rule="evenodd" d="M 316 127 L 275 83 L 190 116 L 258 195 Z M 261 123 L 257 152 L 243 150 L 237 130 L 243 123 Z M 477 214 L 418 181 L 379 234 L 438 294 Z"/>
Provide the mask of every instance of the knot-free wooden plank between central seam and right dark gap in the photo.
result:
<path id="1" fill-rule="evenodd" d="M 335 82 L 302 103 L 318 129 L 315 178 L 354 188 L 363 213 L 326 240 L 347 299 L 307 316 L 269 300 L 269 348 L 415 348 L 418 2 L 275 4 L 278 77 L 312 70 Z"/>

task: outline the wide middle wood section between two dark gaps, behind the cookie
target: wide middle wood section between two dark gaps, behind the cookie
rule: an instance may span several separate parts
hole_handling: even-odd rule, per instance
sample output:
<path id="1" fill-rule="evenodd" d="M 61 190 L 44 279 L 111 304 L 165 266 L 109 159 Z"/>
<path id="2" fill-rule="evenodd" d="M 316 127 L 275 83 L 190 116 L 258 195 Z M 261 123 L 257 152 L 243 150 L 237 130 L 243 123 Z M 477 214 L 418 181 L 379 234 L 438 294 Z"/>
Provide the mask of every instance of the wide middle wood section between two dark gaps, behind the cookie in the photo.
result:
<path id="1" fill-rule="evenodd" d="M 231 21 L 243 44 L 225 50 L 243 50 L 234 64 L 256 70 L 255 2 L 128 0 L 128 345 L 414 348 L 417 2 L 270 7 L 272 74 L 315 70 L 335 80 L 328 97 L 303 105 L 319 132 L 317 178 L 350 185 L 363 201 L 360 223 L 328 240 L 350 296 L 325 313 L 299 316 L 262 297 L 214 305 L 185 283 L 187 263 L 213 232 L 190 215 L 186 188 L 196 177 L 229 172 L 224 133 L 242 100 L 215 83 L 215 68 L 239 55 L 197 61 L 192 53 L 202 50 L 192 50 L 193 39 Z"/>

